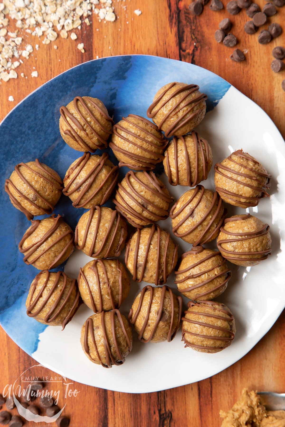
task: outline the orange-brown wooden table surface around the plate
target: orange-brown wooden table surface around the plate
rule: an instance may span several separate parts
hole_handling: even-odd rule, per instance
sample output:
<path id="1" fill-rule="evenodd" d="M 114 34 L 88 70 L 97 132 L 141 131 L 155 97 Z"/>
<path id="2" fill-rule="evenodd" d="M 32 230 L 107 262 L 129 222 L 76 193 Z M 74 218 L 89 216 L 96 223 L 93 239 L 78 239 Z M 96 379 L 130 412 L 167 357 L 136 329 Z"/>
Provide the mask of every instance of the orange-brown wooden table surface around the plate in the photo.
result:
<path id="1" fill-rule="evenodd" d="M 47 46 L 40 42 L 38 52 L 34 52 L 28 61 L 24 61 L 21 69 L 17 69 L 19 74 L 24 72 L 28 78 L 19 76 L 8 83 L 0 83 L 0 118 L 3 119 L 35 88 L 76 64 L 96 56 L 149 54 L 191 62 L 217 73 L 260 105 L 284 137 L 285 92 L 282 91 L 281 82 L 285 79 L 285 70 L 273 73 L 270 69 L 273 59 L 271 51 L 275 46 L 285 46 L 284 34 L 270 44 L 261 45 L 257 42 L 257 34 L 247 35 L 243 31 L 245 21 L 249 20 L 245 11 L 230 16 L 225 9 L 212 12 L 208 5 L 202 15 L 193 17 L 188 10 L 189 3 L 190 0 L 114 1 L 119 16 L 114 23 L 98 23 L 94 17 L 91 26 L 84 25 L 81 30 L 76 30 L 76 41 L 58 38 Z M 263 6 L 265 2 L 258 0 L 257 3 Z M 142 14 L 136 16 L 135 9 L 141 9 Z M 232 49 L 214 40 L 214 31 L 225 17 L 234 23 L 232 32 L 240 41 L 237 47 L 248 50 L 244 62 L 232 62 L 229 59 Z M 270 20 L 285 23 L 285 7 L 278 9 L 278 14 Z M 38 42 L 27 35 L 26 40 L 29 38 L 33 46 Z M 85 45 L 84 54 L 76 48 L 81 41 Z M 53 44 L 58 46 L 57 50 Z M 38 78 L 30 77 L 33 67 L 38 70 Z M 15 102 L 8 101 L 10 95 Z M 74 427 L 218 427 L 219 409 L 229 409 L 244 387 L 285 392 L 284 330 L 285 312 L 253 350 L 235 365 L 212 378 L 188 386 L 132 395 L 74 383 L 73 387 L 80 392 L 76 398 L 68 401 L 64 413 L 70 416 L 70 425 Z M 2 390 L 34 361 L 2 329 L 0 342 Z M 183 363 L 187 369 L 185 360 Z M 188 369 L 193 369 L 193 366 Z M 51 374 L 47 369 L 42 371 L 42 374 Z"/>

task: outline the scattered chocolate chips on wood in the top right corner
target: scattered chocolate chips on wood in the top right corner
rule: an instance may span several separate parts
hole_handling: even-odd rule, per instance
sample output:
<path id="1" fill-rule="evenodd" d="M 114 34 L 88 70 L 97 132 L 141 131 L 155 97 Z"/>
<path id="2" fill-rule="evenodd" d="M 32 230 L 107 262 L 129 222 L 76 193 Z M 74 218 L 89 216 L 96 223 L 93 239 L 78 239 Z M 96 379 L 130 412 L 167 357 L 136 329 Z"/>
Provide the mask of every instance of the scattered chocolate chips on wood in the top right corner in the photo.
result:
<path id="1" fill-rule="evenodd" d="M 201 15 L 203 12 L 204 6 L 209 3 L 209 0 L 194 0 L 190 4 L 189 9 L 194 15 Z M 273 0 L 273 3 L 266 3 L 262 11 L 256 3 L 252 3 L 252 0 L 231 0 L 226 5 L 226 10 L 230 15 L 237 15 L 241 12 L 241 9 L 246 9 L 247 16 L 252 18 L 244 24 L 244 31 L 247 34 L 255 34 L 259 27 L 266 24 L 268 18 L 275 15 L 278 11 L 277 8 L 280 8 L 285 5 L 285 0 Z M 210 9 L 214 12 L 218 12 L 223 9 L 223 3 L 221 0 L 211 0 Z M 234 47 L 238 43 L 238 39 L 230 31 L 232 23 L 229 18 L 224 18 L 220 21 L 219 29 L 214 33 L 214 38 L 217 43 L 223 42 L 227 47 Z M 258 36 L 258 41 L 260 44 L 267 44 L 273 38 L 279 37 L 282 34 L 282 27 L 279 23 L 273 22 L 270 23 L 267 29 L 262 29 Z M 271 62 L 271 69 L 274 73 L 279 73 L 283 70 L 284 62 L 282 61 L 285 58 L 285 48 L 278 46 L 275 47 L 272 51 L 272 55 L 275 59 Z M 244 53 L 240 49 L 235 49 L 230 55 L 232 61 L 241 62 L 245 60 Z M 285 91 L 285 80 L 282 81 L 282 89 Z"/>

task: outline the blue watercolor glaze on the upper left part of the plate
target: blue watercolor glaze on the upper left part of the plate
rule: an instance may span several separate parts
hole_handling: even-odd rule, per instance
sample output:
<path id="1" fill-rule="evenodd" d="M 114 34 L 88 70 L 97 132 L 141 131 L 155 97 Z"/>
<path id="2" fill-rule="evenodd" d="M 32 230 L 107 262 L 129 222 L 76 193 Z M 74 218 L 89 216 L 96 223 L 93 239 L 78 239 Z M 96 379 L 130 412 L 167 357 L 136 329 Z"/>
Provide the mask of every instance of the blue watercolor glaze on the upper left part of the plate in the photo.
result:
<path id="1" fill-rule="evenodd" d="M 172 81 L 199 85 L 208 95 L 207 111 L 218 104 L 230 87 L 214 73 L 186 62 L 144 55 L 102 58 L 85 62 L 50 80 L 18 104 L 1 123 L 0 323 L 26 353 L 31 355 L 36 351 L 39 333 L 46 326 L 26 316 L 26 295 L 38 270 L 26 266 L 18 251 L 18 243 L 29 222 L 10 203 L 4 192 L 5 178 L 9 178 L 16 164 L 35 158 L 64 177 L 69 165 L 81 155 L 62 140 L 59 108 L 75 96 L 101 99 L 116 123 L 131 113 L 146 117 L 156 91 Z M 114 164 L 118 164 L 112 150 L 104 151 L 109 153 Z M 159 165 L 156 172 L 161 170 Z M 126 168 L 121 168 L 119 180 L 125 174 Z M 112 206 L 112 202 L 106 205 Z M 84 209 L 73 208 L 65 196 L 55 209 L 55 213 L 64 216 L 73 229 L 84 212 Z M 62 266 L 56 270 L 59 269 Z"/>

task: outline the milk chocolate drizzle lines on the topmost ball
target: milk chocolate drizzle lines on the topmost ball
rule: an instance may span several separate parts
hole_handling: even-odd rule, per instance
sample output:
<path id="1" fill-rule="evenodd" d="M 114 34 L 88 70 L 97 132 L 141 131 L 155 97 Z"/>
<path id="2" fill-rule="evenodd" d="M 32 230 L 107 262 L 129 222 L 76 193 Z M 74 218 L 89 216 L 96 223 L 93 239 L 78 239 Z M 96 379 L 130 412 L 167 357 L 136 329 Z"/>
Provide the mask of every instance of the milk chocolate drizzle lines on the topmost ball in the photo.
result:
<path id="1" fill-rule="evenodd" d="M 183 108 L 187 107 L 187 111 L 185 113 L 181 114 L 181 116 L 175 120 L 165 131 L 166 137 L 171 137 L 176 134 L 176 132 L 182 128 L 186 123 L 190 122 L 194 117 L 196 117 L 200 113 L 200 109 L 197 111 L 194 111 L 191 113 L 191 111 L 200 104 L 200 102 L 206 101 L 208 98 L 206 94 L 197 94 L 195 97 L 188 99 L 186 102 L 183 102 L 190 94 L 193 94 L 194 92 L 199 90 L 198 85 L 186 85 L 182 88 L 176 89 L 176 91 L 173 92 L 173 94 L 170 94 L 169 97 L 162 102 L 162 105 L 160 105 L 159 108 L 157 108 L 155 111 L 153 109 L 156 107 L 156 105 L 159 104 L 159 102 L 162 100 L 162 98 L 165 96 L 165 94 L 175 86 L 177 82 L 170 83 L 170 85 L 165 89 L 165 91 L 162 92 L 162 94 L 159 95 L 159 97 L 149 106 L 147 109 L 147 117 L 152 119 L 156 116 L 156 114 L 161 110 L 167 102 L 169 102 L 172 98 L 174 98 L 176 95 L 181 94 L 181 92 L 185 92 L 185 95 L 183 95 L 181 98 L 179 97 L 178 102 L 174 105 L 174 107 L 170 108 L 167 114 L 163 117 L 162 121 L 159 123 L 158 128 L 159 130 L 162 129 L 163 124 L 166 120 L 171 120 L 173 116 L 178 114 Z M 181 107 L 179 108 L 179 105 Z M 188 117 L 187 114 L 191 113 Z"/>

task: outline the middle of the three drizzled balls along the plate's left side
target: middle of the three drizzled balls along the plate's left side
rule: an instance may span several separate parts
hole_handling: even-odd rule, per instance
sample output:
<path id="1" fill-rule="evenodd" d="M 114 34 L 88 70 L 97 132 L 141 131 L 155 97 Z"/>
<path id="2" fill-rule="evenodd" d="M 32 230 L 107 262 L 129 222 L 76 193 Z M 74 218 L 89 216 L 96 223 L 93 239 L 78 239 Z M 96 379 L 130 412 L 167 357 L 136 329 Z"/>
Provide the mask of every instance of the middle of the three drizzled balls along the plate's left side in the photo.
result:
<path id="1" fill-rule="evenodd" d="M 31 222 L 19 243 L 19 251 L 25 255 L 27 265 L 50 270 L 70 257 L 74 250 L 74 233 L 61 215 Z"/>

